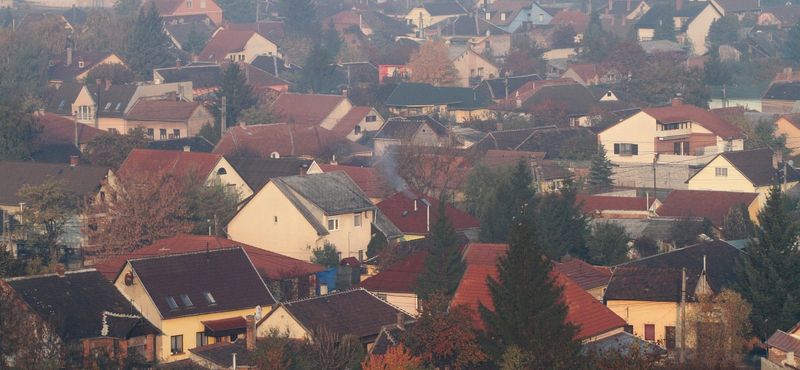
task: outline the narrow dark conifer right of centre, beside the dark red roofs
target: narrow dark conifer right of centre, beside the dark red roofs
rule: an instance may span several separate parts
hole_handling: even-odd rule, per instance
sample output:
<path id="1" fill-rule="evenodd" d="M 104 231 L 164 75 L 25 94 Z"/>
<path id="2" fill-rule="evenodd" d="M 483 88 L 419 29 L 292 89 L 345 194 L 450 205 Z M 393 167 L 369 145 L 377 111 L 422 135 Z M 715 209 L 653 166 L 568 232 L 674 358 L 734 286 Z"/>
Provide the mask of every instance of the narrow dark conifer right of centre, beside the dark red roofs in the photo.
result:
<path id="1" fill-rule="evenodd" d="M 466 265 L 456 243 L 456 229 L 446 213 L 444 199 L 439 199 L 436 222 L 431 226 L 431 246 L 425 255 L 425 270 L 417 275 L 414 292 L 421 300 L 434 294 L 450 296 L 455 293 Z"/>

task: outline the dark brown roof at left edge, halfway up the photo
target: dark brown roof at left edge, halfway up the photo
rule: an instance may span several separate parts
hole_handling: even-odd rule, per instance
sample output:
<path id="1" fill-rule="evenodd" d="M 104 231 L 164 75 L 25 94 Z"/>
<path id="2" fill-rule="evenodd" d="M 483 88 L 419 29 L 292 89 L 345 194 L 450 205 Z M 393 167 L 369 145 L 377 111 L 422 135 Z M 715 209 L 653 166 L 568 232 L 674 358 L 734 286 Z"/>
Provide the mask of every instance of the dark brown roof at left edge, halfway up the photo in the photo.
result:
<path id="1" fill-rule="evenodd" d="M 17 191 L 23 185 L 41 185 L 51 177 L 64 181 L 66 189 L 77 196 L 95 194 L 108 175 L 108 167 L 5 161 L 0 162 L 0 174 L 0 204 L 19 206 L 24 200 Z"/>

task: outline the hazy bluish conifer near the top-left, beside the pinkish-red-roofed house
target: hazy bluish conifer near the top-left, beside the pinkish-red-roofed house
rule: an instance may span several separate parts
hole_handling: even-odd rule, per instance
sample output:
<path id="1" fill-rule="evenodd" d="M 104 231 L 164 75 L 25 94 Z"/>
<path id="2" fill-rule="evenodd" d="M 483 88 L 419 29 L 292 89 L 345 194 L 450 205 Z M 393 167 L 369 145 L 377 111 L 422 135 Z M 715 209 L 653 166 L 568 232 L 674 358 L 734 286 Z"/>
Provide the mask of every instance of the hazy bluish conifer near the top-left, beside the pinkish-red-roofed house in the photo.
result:
<path id="1" fill-rule="evenodd" d="M 128 39 L 127 62 L 131 70 L 150 78 L 153 69 L 172 63 L 171 47 L 172 41 L 164 32 L 164 20 L 158 14 L 155 2 L 146 13 L 144 8 L 139 9 L 133 33 Z"/>

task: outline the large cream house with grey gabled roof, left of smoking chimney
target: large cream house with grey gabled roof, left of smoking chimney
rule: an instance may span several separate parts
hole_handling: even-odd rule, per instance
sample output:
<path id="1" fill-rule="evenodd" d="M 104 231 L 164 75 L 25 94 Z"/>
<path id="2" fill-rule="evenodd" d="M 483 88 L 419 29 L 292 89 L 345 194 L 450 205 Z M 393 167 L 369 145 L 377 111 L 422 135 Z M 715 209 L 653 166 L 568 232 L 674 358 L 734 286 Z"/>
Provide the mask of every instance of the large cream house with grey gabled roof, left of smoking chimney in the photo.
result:
<path id="1" fill-rule="evenodd" d="M 344 172 L 272 178 L 228 224 L 228 235 L 256 247 L 307 260 L 330 243 L 342 258 L 359 255 L 371 226 L 402 234 Z"/>

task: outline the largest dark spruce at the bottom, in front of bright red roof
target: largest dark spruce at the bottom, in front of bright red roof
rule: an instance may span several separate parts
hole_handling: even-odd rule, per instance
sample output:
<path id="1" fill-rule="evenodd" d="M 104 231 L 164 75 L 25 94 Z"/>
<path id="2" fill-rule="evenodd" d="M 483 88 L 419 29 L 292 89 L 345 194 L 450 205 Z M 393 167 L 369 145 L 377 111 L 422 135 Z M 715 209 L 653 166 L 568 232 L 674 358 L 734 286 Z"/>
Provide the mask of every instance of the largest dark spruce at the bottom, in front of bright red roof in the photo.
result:
<path id="1" fill-rule="evenodd" d="M 497 279 L 486 278 L 494 310 L 478 303 L 490 340 L 487 353 L 500 362 L 511 348 L 521 349 L 525 369 L 573 368 L 580 351 L 577 327 L 566 322 L 564 288 L 545 257 L 531 207 L 514 217 L 506 254 L 497 260 Z"/>

